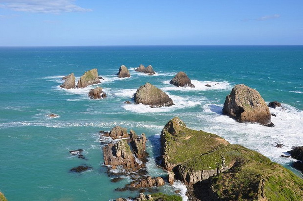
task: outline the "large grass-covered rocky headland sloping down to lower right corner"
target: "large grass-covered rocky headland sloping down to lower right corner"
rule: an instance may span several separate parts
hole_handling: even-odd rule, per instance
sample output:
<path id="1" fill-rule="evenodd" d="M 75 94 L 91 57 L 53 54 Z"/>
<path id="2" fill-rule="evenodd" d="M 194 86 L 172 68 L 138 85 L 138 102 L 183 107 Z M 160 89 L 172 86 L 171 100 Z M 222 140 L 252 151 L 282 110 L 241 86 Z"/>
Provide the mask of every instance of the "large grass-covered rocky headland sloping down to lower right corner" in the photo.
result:
<path id="1" fill-rule="evenodd" d="M 300 200 L 303 180 L 256 151 L 195 131 L 175 117 L 161 132 L 162 166 L 190 200 Z M 207 182 L 204 182 L 207 180 Z"/>

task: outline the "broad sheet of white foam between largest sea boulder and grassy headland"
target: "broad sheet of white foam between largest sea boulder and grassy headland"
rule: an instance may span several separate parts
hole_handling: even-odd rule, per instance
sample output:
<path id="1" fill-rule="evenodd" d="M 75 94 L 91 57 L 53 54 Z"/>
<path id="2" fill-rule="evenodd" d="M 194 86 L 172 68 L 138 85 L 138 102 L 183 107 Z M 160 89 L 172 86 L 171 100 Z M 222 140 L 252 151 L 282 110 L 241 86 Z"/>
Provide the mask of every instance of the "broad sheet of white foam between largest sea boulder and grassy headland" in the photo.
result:
<path id="1" fill-rule="evenodd" d="M 302 146 L 303 111 L 286 104 L 282 106 L 276 109 L 269 108 L 270 112 L 276 115 L 271 117 L 275 127 L 238 123 L 228 116 L 221 115 L 223 105 L 217 104 L 205 104 L 203 106 L 205 114 L 197 115 L 196 118 L 207 125 L 202 130 L 218 134 L 232 144 L 241 144 L 256 150 L 274 162 L 286 164 L 291 159 L 280 156 L 293 146 Z M 284 147 L 274 147 L 275 142 L 284 144 Z"/>

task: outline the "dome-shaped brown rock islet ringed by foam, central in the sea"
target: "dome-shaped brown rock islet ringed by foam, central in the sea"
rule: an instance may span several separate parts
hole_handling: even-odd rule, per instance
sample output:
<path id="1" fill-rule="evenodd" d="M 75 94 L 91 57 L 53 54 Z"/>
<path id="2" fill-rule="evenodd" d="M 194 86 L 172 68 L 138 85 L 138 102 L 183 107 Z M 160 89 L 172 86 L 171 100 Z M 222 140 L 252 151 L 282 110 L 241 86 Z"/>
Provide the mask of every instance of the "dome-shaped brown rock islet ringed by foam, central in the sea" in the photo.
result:
<path id="1" fill-rule="evenodd" d="M 151 108 L 174 105 L 166 93 L 150 83 L 145 83 L 136 91 L 134 101 L 136 104 L 150 105 Z"/>

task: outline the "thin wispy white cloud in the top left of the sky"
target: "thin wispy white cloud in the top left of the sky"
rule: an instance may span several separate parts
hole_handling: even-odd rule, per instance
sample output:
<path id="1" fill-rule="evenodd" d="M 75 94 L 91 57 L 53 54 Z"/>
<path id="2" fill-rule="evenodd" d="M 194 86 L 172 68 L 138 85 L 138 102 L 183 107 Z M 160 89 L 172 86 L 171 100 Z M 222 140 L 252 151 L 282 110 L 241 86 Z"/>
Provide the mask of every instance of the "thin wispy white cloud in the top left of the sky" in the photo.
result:
<path id="1" fill-rule="evenodd" d="M 34 13 L 86 12 L 75 0 L 0 0 L 0 8 Z"/>

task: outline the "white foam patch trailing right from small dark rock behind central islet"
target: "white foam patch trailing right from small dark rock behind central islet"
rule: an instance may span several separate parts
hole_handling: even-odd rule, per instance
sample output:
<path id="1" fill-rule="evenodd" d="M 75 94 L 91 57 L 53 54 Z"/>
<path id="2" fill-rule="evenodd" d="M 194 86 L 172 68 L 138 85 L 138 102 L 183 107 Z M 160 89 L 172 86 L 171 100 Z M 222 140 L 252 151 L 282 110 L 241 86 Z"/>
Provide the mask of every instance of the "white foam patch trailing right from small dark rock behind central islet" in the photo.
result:
<path id="1" fill-rule="evenodd" d="M 164 81 L 164 84 L 170 84 L 170 81 Z M 207 90 L 230 90 L 232 86 L 228 82 L 215 82 L 215 81 L 198 81 L 192 80 L 192 84 L 195 85 L 194 88 L 191 87 L 177 87 L 171 85 L 170 87 L 162 87 L 161 90 L 171 91 L 171 90 L 181 90 L 181 91 L 207 91 Z M 206 87 L 205 85 L 211 85 L 211 87 Z"/>

